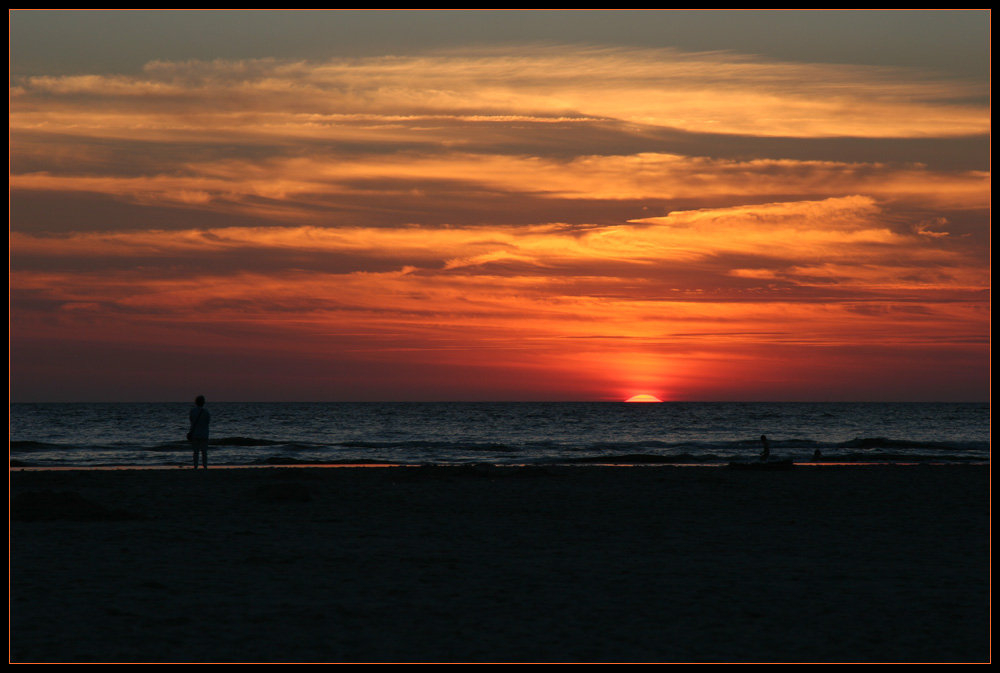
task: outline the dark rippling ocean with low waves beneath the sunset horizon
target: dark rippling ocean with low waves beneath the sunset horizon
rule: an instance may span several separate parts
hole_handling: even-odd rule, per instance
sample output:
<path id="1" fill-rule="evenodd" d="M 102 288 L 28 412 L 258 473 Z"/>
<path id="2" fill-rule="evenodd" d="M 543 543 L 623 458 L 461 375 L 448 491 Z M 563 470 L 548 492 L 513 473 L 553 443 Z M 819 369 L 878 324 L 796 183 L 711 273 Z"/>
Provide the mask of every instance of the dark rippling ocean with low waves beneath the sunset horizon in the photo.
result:
<path id="1" fill-rule="evenodd" d="M 10 406 L 11 467 L 186 467 L 190 403 Z M 206 405 L 210 465 L 989 461 L 988 403 Z"/>

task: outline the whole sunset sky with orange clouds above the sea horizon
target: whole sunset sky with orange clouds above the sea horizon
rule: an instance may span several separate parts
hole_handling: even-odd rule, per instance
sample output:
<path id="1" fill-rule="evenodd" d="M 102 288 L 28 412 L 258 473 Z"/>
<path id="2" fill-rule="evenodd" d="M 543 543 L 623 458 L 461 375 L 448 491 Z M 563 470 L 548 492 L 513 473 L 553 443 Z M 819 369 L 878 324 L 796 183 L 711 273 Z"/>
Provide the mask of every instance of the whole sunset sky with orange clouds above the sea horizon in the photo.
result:
<path id="1" fill-rule="evenodd" d="M 977 401 L 990 13 L 12 11 L 13 401 Z"/>

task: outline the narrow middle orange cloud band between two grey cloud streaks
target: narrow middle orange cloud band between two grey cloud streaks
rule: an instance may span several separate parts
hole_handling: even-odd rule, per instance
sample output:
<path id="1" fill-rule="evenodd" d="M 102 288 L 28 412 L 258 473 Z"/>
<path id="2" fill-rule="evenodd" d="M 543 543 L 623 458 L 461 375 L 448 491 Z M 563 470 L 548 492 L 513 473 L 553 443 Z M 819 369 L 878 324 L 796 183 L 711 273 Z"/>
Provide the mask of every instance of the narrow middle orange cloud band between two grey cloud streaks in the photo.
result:
<path id="1" fill-rule="evenodd" d="M 532 195 L 545 199 L 642 200 L 777 194 L 906 199 L 937 208 L 986 208 L 991 181 L 980 172 L 832 162 L 691 159 L 669 155 L 583 157 L 569 162 L 527 157 L 394 156 L 364 161 L 269 160 L 190 165 L 187 175 L 142 177 L 15 175 L 21 190 L 90 192 L 140 204 L 253 212 L 274 220 L 322 222 L 338 197 L 427 198 L 421 185 Z M 434 188 L 431 188 L 432 190 Z M 446 187 L 446 189 L 448 189 Z M 363 224 L 357 221 L 355 224 Z"/>

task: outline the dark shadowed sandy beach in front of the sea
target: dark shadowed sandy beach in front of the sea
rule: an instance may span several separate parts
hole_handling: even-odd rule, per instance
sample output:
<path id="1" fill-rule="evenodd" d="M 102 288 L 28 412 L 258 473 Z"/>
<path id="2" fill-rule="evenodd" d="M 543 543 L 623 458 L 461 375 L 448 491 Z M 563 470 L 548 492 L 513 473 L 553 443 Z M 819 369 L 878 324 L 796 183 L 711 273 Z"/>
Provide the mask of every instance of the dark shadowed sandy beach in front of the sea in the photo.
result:
<path id="1" fill-rule="evenodd" d="M 10 478 L 11 662 L 990 659 L 987 466 Z"/>

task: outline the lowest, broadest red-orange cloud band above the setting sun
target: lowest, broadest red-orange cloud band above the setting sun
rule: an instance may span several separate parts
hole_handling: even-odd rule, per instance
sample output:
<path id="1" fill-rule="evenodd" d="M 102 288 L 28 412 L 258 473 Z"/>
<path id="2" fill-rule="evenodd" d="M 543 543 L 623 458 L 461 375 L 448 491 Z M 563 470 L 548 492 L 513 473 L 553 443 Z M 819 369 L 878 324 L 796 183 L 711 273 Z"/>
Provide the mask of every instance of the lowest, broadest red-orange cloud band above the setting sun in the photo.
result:
<path id="1" fill-rule="evenodd" d="M 403 330 L 415 348 L 430 342 L 435 348 L 492 344 L 507 333 L 519 348 L 594 336 L 683 342 L 711 334 L 716 344 L 727 335 L 744 343 L 892 341 L 904 323 L 929 320 L 947 320 L 955 338 L 978 335 L 975 311 L 961 306 L 981 303 L 943 307 L 937 301 L 987 291 L 988 268 L 944 239 L 893 231 L 880 218 L 870 199 L 852 197 L 676 213 L 582 231 L 539 226 L 230 228 L 45 238 L 14 233 L 15 258 L 73 258 L 78 265 L 94 257 L 105 267 L 120 256 L 146 264 L 121 272 L 15 271 L 11 286 L 64 307 L 101 306 L 116 320 L 202 321 L 208 315 L 230 324 L 280 324 L 284 332 L 309 337 L 331 329 Z M 289 266 L 270 273 L 241 266 L 255 249 L 272 257 L 287 254 Z M 313 258 L 319 260 L 315 267 L 335 254 L 388 259 L 395 268 L 294 269 L 296 262 Z M 175 277 L 178 260 L 202 270 Z M 841 296 L 845 290 L 850 294 Z M 886 322 L 885 314 L 855 310 L 872 302 L 920 306 L 923 312 L 903 311 Z M 953 313 L 945 315 L 945 308 Z M 756 334 L 752 326 L 760 323 L 769 328 Z"/>

